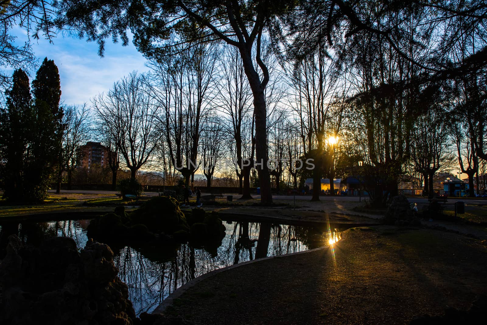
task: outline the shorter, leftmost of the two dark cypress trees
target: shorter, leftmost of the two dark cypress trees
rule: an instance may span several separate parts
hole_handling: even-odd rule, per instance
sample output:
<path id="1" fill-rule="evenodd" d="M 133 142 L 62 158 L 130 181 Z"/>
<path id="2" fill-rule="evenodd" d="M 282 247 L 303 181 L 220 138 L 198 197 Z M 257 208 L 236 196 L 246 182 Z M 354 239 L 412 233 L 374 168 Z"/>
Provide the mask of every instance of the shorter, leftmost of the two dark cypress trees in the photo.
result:
<path id="1" fill-rule="evenodd" d="M 26 154 L 31 143 L 27 131 L 33 126 L 29 77 L 18 69 L 12 76 L 12 88 L 6 91 L 6 108 L 0 108 L 0 165 L 4 180 L 4 197 L 23 199 Z"/>

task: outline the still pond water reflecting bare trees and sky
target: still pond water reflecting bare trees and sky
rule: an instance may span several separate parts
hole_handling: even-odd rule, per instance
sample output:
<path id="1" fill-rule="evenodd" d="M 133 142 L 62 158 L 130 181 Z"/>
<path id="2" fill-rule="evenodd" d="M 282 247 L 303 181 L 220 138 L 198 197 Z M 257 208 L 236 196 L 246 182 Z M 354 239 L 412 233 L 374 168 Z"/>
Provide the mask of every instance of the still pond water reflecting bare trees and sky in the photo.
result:
<path id="1" fill-rule="evenodd" d="M 89 223 L 90 220 L 64 220 L 0 224 L 0 258 L 7 237 L 12 234 L 18 234 L 24 242 L 39 233 L 44 237 L 68 236 L 81 249 L 88 240 L 86 228 Z M 324 226 L 237 221 L 224 221 L 224 225 L 225 237 L 217 248 L 203 249 L 184 244 L 168 251 L 161 248 L 141 251 L 130 246 L 111 246 L 118 276 L 129 287 L 137 315 L 143 311 L 151 312 L 171 292 L 207 272 L 255 258 L 306 251 L 325 245 L 330 239 Z"/>

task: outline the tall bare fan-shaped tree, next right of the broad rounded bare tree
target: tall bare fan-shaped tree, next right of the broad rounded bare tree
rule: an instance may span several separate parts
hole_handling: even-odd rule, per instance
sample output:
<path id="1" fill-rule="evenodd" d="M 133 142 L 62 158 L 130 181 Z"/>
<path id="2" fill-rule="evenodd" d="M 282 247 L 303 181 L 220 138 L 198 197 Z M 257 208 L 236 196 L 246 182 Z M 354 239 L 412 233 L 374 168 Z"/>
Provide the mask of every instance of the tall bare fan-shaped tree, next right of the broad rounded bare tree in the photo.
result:
<path id="1" fill-rule="evenodd" d="M 196 44 L 174 55 L 152 61 L 154 93 L 163 108 L 165 143 L 173 166 L 184 176 L 186 185 L 194 181 L 198 169 L 201 123 L 212 108 L 214 72 L 219 47 Z"/>

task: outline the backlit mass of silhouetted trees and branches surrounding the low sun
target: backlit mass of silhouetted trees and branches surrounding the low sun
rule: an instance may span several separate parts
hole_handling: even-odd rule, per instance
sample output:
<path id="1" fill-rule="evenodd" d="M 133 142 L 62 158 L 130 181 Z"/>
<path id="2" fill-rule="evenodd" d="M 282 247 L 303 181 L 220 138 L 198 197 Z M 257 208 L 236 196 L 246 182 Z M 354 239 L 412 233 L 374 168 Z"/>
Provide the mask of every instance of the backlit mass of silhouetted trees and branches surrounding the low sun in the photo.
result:
<path id="1" fill-rule="evenodd" d="M 131 178 L 151 166 L 189 184 L 205 167 L 210 186 L 211 153 L 238 162 L 246 198 L 257 170 L 262 203 L 271 180 L 328 178 L 333 193 L 334 178 L 356 175 L 383 205 L 403 175 L 432 194 L 433 177 L 456 165 L 474 195 L 487 158 L 485 1 L 20 2 L 4 6 L 5 35 L 21 17 L 36 36 L 69 29 L 103 55 L 130 30 L 149 59 L 149 74 L 93 100 L 113 180 L 121 157 Z M 299 158 L 315 169 L 298 170 Z"/>

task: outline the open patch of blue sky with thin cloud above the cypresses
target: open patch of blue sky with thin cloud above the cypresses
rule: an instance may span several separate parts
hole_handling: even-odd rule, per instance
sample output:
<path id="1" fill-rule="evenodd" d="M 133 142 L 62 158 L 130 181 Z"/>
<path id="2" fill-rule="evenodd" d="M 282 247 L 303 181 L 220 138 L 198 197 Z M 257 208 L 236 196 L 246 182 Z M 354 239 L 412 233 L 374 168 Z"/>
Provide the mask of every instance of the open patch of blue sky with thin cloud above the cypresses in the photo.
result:
<path id="1" fill-rule="evenodd" d="M 12 34 L 18 37 L 19 44 L 27 40 L 24 29 L 16 28 Z M 84 39 L 69 36 L 54 38 L 54 44 L 48 40 L 31 40 L 32 49 L 38 59 L 38 65 L 44 57 L 54 60 L 61 78 L 61 101 L 65 105 L 82 105 L 99 92 L 109 90 L 113 82 L 136 70 L 149 71 L 145 66 L 146 59 L 138 53 L 135 46 L 122 46 L 107 40 L 105 56 L 98 56 L 98 45 Z M 38 68 L 37 65 L 37 68 Z M 31 81 L 37 69 L 30 71 Z M 7 73 L 12 73 L 6 71 Z"/>

